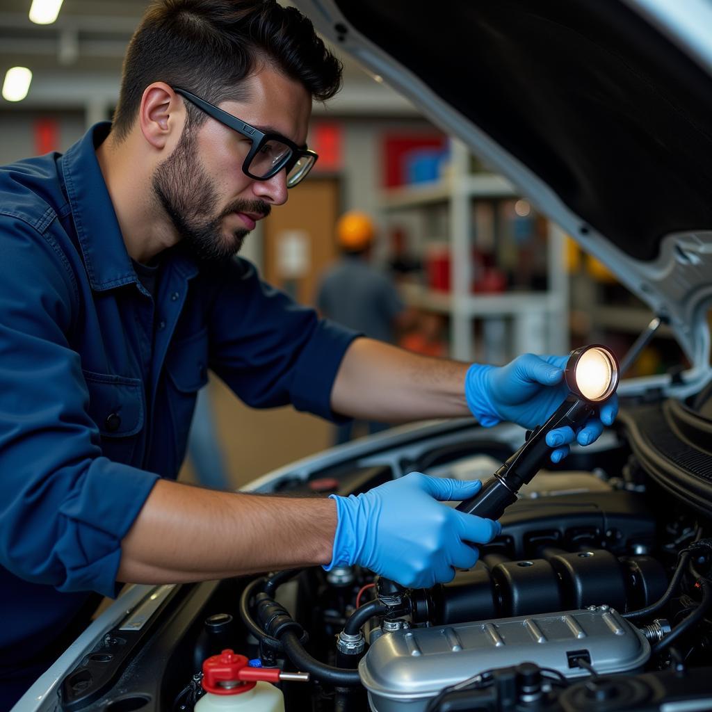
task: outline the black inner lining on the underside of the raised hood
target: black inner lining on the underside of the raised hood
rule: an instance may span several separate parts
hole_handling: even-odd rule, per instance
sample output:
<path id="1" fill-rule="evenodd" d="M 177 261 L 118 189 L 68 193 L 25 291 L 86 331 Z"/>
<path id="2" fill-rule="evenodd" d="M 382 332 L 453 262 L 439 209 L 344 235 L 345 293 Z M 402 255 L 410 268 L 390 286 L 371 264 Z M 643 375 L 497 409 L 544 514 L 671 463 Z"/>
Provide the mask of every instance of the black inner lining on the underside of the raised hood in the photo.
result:
<path id="1" fill-rule="evenodd" d="M 711 78 L 626 5 L 336 4 L 629 256 L 712 227 Z"/>

